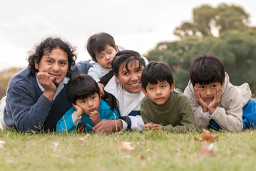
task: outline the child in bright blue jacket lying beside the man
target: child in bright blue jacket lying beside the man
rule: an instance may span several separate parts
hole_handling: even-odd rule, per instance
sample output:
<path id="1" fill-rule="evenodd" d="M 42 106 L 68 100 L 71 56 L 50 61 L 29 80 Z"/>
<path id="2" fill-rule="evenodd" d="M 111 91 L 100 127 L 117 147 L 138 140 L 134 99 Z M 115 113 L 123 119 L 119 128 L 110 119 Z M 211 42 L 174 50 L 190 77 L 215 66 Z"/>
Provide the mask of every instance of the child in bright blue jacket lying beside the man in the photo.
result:
<path id="1" fill-rule="evenodd" d="M 105 100 L 101 100 L 98 84 L 91 76 L 80 74 L 71 78 L 67 85 L 67 96 L 73 107 L 58 121 L 57 133 L 73 132 L 80 121 L 89 133 L 101 120 L 118 118 L 116 109 L 111 109 Z"/>

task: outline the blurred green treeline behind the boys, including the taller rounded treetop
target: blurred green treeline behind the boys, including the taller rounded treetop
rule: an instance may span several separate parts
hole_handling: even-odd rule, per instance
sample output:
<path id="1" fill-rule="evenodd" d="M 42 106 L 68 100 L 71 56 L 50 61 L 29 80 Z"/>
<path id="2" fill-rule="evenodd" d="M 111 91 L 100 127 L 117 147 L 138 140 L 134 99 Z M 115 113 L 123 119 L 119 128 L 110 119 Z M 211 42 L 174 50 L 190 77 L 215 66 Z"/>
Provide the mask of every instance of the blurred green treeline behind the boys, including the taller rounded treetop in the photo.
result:
<path id="1" fill-rule="evenodd" d="M 193 9 L 193 21 L 183 22 L 174 34 L 180 41 L 162 42 L 146 55 L 148 61 L 163 61 L 172 68 L 176 87 L 185 89 L 191 61 L 199 51 L 215 53 L 225 65 L 230 82 L 249 83 L 256 93 L 256 28 L 240 6 L 203 5 Z"/>

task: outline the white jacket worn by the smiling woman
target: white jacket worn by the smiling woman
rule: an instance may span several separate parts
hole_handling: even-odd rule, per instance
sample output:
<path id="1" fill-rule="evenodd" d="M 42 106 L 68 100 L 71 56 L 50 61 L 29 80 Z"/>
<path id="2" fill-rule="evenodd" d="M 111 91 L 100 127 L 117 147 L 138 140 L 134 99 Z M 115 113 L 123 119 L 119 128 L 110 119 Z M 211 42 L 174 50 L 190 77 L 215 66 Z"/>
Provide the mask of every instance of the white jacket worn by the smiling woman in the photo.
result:
<path id="1" fill-rule="evenodd" d="M 118 100 L 118 107 L 121 116 L 127 116 L 133 110 L 140 110 L 141 100 L 145 96 L 142 90 L 140 93 L 129 93 L 124 90 L 123 86 L 116 82 L 115 76 L 108 81 L 104 90 L 114 95 L 116 100 Z M 143 130 L 144 122 L 140 115 L 129 116 L 129 118 L 131 120 L 131 129 Z M 121 121 L 123 123 L 123 130 L 126 130 L 128 124 L 124 120 Z"/>

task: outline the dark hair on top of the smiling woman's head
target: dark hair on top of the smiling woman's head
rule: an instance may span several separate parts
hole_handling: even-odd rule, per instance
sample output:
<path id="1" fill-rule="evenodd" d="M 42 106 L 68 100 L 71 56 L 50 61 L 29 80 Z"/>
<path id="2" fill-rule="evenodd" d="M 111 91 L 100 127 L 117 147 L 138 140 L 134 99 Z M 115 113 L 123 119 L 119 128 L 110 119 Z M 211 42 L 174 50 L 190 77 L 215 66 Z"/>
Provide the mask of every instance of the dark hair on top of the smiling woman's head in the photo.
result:
<path id="1" fill-rule="evenodd" d="M 140 56 L 140 53 L 130 50 L 119 51 L 116 53 L 116 56 L 112 62 L 113 73 L 118 76 L 119 68 L 123 65 L 123 63 L 126 63 L 126 69 L 128 70 L 128 63 L 134 61 L 138 61 L 141 68 L 142 66 L 145 66 L 144 58 Z"/>

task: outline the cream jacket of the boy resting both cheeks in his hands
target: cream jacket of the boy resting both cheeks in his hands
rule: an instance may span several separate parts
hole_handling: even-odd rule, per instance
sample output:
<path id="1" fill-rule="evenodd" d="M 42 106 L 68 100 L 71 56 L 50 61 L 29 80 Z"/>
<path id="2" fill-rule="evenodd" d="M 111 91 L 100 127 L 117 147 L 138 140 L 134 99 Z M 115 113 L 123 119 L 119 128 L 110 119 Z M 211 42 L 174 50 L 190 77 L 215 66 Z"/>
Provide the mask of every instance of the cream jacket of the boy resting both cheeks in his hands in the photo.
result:
<path id="1" fill-rule="evenodd" d="M 184 90 L 184 95 L 190 101 L 198 128 L 201 130 L 207 128 L 210 119 L 213 119 L 223 130 L 232 132 L 242 130 L 242 107 L 250 100 L 252 92 L 247 83 L 242 84 L 242 86 L 233 86 L 229 81 L 229 76 L 225 73 L 222 98 L 210 118 L 202 112 L 202 107 L 197 103 L 194 88 L 190 81 Z"/>

